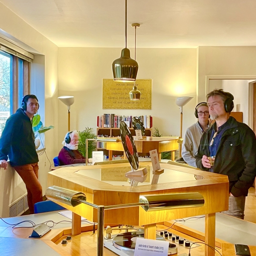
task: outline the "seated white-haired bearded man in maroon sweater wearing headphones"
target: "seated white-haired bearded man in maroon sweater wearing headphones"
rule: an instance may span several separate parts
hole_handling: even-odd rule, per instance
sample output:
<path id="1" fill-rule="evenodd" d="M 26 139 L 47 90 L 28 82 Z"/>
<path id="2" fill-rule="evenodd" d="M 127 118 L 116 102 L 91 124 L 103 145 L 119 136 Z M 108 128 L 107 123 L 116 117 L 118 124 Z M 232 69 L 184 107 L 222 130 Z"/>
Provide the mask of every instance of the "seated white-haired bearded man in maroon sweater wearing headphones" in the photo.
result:
<path id="1" fill-rule="evenodd" d="M 78 131 L 69 131 L 62 142 L 64 146 L 58 154 L 60 165 L 69 165 L 76 163 L 85 163 L 83 157 L 78 149 Z"/>

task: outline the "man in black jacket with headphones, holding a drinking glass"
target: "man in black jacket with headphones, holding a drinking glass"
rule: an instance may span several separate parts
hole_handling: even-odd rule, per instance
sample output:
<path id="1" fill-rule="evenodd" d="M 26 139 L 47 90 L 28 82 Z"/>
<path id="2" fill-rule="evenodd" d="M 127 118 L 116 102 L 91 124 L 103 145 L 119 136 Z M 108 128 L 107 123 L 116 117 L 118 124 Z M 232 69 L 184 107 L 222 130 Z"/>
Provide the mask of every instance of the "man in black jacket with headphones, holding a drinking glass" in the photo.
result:
<path id="1" fill-rule="evenodd" d="M 222 89 L 207 94 L 215 123 L 201 138 L 196 164 L 201 170 L 228 176 L 229 209 L 223 213 L 244 219 L 245 197 L 256 176 L 256 138 L 248 125 L 230 116 L 233 99 Z M 213 165 L 208 157 L 215 157 Z"/>

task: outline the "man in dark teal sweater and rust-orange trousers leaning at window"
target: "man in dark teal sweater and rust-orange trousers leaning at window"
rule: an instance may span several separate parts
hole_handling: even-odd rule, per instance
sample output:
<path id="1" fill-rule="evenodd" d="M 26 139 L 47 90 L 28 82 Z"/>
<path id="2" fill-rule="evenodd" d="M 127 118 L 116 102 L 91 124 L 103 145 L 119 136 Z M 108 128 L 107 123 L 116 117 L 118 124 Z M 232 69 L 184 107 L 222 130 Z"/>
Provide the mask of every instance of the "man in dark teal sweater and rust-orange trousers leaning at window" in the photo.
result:
<path id="1" fill-rule="evenodd" d="M 29 211 L 32 214 L 34 204 L 42 201 L 42 186 L 38 180 L 38 154 L 32 130 L 32 119 L 39 108 L 37 97 L 33 94 L 24 96 L 21 107 L 6 120 L 0 138 L 0 167 L 7 169 L 9 158 L 10 165 L 26 184 Z"/>

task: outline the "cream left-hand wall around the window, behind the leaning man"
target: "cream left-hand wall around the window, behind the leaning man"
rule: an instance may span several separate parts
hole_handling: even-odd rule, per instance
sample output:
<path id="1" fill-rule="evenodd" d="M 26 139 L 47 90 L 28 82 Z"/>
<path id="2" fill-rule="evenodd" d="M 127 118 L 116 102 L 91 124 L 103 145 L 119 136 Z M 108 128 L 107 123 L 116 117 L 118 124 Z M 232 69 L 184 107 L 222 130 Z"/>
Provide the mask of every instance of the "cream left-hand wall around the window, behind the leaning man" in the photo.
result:
<path id="1" fill-rule="evenodd" d="M 45 147 L 47 148 L 47 156 L 52 162 L 56 155 L 58 137 L 58 47 L 41 35 L 32 26 L 29 26 L 24 20 L 18 17 L 14 12 L 0 3 L 0 37 L 15 43 L 17 46 L 29 50 L 32 53 L 40 54 L 35 56 L 35 64 L 43 64 L 37 72 L 36 67 L 32 79 L 32 91 L 37 93 L 40 99 L 39 113 L 45 114 L 44 125 L 54 125 L 55 129 L 47 131 L 45 134 Z M 42 77 L 43 76 L 43 77 Z M 44 173 L 49 170 L 49 162 L 43 164 L 44 169 L 39 172 Z M 0 170 L 2 172 L 2 170 Z M 6 174 L 6 172 L 4 172 Z M 11 186 L 8 182 L 12 182 L 12 178 L 1 175 L 1 180 L 6 180 L 6 184 L 0 187 L 0 195 L 6 197 L 12 195 L 11 204 L 20 197 L 20 191 L 23 191 L 23 184 L 18 182 L 15 186 Z M 16 179 L 15 177 L 13 177 Z M 11 190 L 10 190 L 11 189 Z M 0 213 L 3 210 L 3 201 L 0 198 Z"/>

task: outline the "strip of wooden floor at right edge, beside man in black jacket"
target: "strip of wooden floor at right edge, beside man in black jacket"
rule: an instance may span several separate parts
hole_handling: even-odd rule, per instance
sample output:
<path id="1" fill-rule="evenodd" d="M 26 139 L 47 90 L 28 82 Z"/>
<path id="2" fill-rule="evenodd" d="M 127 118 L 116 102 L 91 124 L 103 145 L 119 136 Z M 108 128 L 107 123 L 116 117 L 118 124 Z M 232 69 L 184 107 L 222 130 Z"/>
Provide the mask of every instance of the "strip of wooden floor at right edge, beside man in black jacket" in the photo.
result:
<path id="1" fill-rule="evenodd" d="M 256 196 L 255 189 L 251 187 L 245 200 L 244 220 L 256 223 Z"/>

